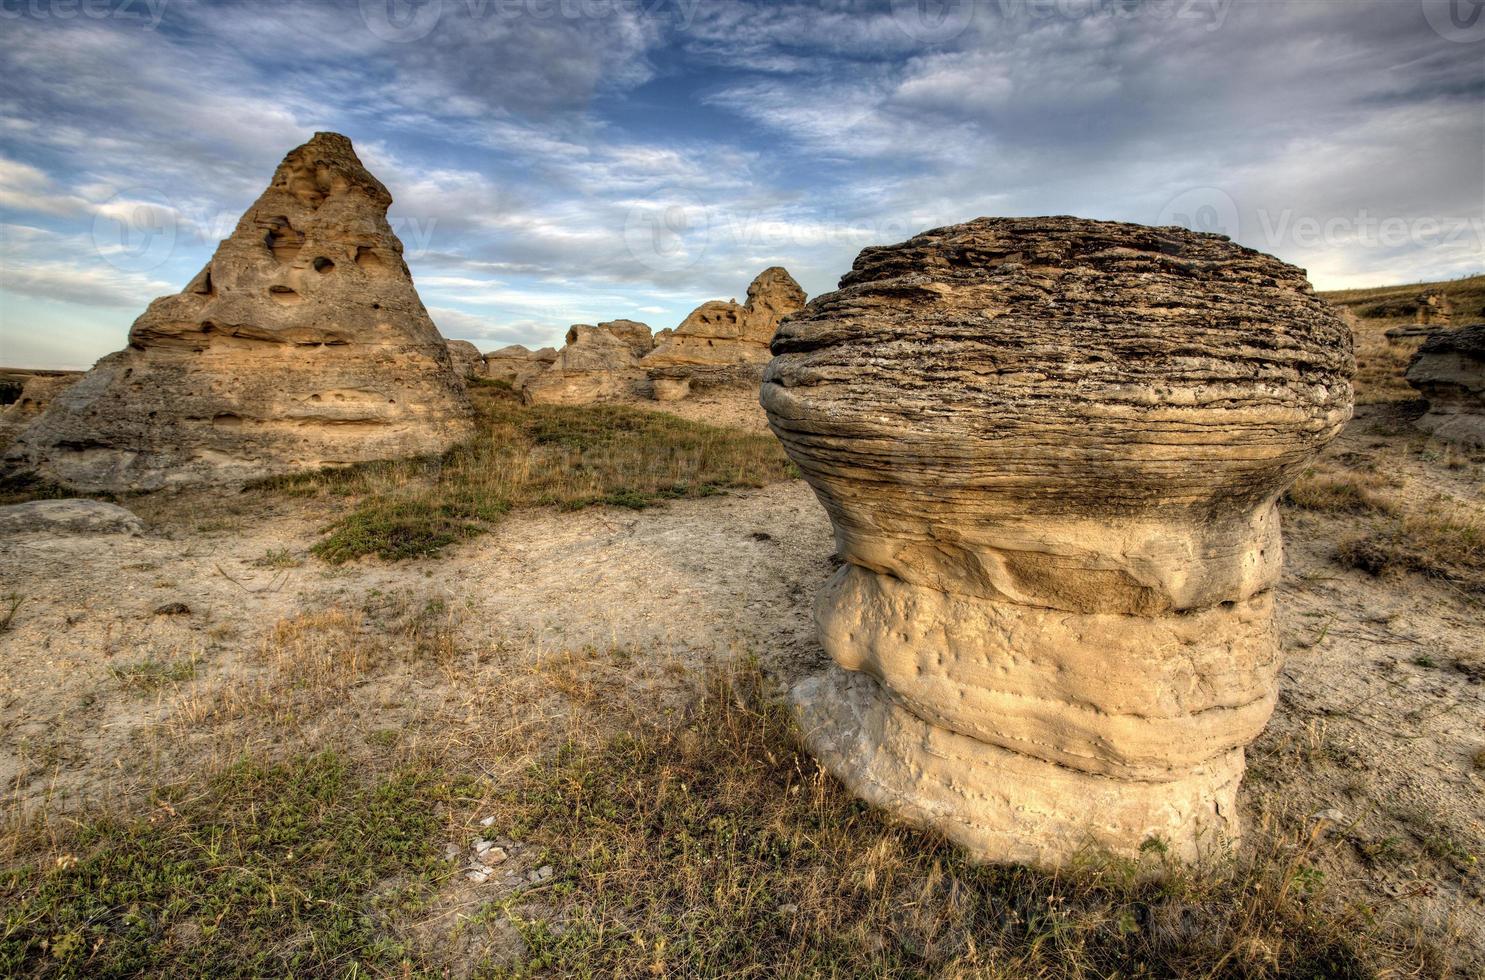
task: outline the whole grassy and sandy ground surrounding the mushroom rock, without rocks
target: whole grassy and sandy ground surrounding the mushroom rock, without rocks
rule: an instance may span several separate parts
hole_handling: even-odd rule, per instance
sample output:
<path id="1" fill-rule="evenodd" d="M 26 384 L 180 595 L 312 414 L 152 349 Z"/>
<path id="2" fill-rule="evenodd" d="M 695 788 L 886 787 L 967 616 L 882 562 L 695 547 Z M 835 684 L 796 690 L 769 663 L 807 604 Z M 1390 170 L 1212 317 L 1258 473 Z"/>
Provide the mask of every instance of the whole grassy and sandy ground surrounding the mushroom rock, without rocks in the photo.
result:
<path id="1" fill-rule="evenodd" d="M 1386 337 L 1430 291 L 1455 322 L 1485 303 L 1485 279 L 1328 297 L 1356 313 L 1357 407 L 1283 500 L 1285 664 L 1236 855 L 973 866 L 851 800 L 778 704 L 826 662 L 836 560 L 756 393 L 472 382 L 475 457 L 0 532 L 0 962 L 1478 976 L 1485 457 L 1414 426 L 1420 339 Z M 457 496 L 512 442 L 545 462 L 508 512 L 347 527 Z"/>

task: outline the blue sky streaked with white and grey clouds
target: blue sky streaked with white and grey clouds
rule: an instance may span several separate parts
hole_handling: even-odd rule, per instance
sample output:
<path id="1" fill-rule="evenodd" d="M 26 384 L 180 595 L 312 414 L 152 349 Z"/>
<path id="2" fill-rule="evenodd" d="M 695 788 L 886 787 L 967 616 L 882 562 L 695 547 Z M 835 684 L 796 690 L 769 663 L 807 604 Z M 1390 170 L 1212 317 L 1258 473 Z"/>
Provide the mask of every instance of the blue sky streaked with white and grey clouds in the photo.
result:
<path id="1" fill-rule="evenodd" d="M 484 350 L 977 215 L 1485 270 L 1475 0 L 0 0 L 0 364 L 123 346 L 318 129 Z"/>

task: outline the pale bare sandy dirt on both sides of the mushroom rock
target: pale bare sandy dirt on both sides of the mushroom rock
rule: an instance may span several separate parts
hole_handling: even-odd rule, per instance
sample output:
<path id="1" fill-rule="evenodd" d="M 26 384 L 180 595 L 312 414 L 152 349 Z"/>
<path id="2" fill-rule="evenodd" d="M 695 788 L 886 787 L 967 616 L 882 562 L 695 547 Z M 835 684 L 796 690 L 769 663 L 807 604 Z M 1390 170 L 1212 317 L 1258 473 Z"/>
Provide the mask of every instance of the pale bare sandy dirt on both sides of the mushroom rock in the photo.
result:
<path id="1" fill-rule="evenodd" d="M 1481 505 L 1481 465 L 1442 465 L 1393 408 L 1363 410 L 1328 459 Z M 147 806 L 160 781 L 303 745 L 453 744 L 497 780 L 560 738 L 575 699 L 664 713 L 716 664 L 757 658 L 784 683 L 823 664 L 809 607 L 833 545 L 802 481 L 649 511 L 518 511 L 440 558 L 339 567 L 307 554 L 331 503 L 195 491 L 129 506 L 144 536 L 0 539 L 0 594 L 21 600 L 0 633 L 12 817 Z M 1481 604 L 1336 563 L 1356 520 L 1286 511 L 1289 659 L 1249 754 L 1247 820 L 1313 826 L 1332 886 L 1478 956 Z M 156 612 L 169 603 L 189 612 Z"/>

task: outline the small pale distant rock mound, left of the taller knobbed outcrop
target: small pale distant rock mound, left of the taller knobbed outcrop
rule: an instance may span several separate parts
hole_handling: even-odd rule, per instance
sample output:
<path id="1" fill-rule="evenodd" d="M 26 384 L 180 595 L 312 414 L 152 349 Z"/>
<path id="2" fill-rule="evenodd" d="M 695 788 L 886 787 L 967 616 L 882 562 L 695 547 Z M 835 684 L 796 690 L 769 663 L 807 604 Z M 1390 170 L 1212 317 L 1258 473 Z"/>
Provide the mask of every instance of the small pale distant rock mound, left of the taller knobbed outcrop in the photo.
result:
<path id="1" fill-rule="evenodd" d="M 585 405 L 634 396 L 644 383 L 640 356 L 652 343 L 649 327 L 633 319 L 573 324 L 557 359 L 526 382 L 521 393 L 536 405 Z"/>

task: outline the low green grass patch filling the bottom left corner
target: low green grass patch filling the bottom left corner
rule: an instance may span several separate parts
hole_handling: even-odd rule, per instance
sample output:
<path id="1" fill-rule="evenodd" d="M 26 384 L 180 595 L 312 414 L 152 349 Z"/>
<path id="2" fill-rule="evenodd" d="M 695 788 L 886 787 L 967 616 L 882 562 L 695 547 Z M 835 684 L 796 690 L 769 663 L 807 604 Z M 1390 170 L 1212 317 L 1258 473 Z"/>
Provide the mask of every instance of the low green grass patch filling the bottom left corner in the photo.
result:
<path id="1" fill-rule="evenodd" d="M 457 793 L 428 772 L 365 784 L 327 753 L 241 763 L 148 820 L 85 823 L 65 854 L 0 875 L 0 974 L 395 973 L 407 953 L 377 919 L 447 873 Z"/>

